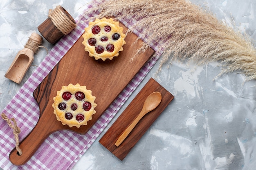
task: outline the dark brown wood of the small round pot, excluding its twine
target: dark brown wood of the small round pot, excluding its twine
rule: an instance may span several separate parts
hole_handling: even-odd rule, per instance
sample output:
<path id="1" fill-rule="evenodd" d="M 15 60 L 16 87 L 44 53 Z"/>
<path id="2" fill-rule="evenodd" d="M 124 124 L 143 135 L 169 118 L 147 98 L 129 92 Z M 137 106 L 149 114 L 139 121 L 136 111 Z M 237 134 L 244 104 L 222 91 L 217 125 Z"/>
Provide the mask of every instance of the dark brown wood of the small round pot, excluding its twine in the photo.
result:
<path id="1" fill-rule="evenodd" d="M 70 20 L 70 22 L 73 22 L 73 24 L 76 24 L 76 21 L 74 20 L 74 18 L 63 7 L 59 7 L 59 8 L 61 9 L 62 14 L 64 14 Z M 60 22 L 63 22 L 63 21 L 60 21 Z M 64 33 L 62 33 L 54 25 L 54 23 L 49 17 L 42 24 L 38 26 L 38 31 L 51 44 L 55 44 L 64 35 Z M 70 32 L 71 31 L 72 30 L 70 30 Z"/>

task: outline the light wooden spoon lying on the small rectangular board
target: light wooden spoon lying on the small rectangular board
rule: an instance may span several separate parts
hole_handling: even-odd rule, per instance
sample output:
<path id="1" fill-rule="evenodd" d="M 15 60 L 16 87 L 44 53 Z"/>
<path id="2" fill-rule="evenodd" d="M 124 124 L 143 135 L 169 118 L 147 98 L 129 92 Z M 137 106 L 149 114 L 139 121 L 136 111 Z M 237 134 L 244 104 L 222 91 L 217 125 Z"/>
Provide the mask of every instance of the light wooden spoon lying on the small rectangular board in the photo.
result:
<path id="1" fill-rule="evenodd" d="M 162 95 L 159 92 L 153 92 L 151 93 L 145 100 L 143 108 L 141 109 L 141 112 L 137 116 L 137 118 L 124 130 L 124 132 L 119 136 L 117 139 L 117 142 L 115 143 L 115 146 L 119 146 L 124 139 L 129 135 L 129 133 L 132 131 L 132 129 L 136 126 L 136 124 L 141 120 L 143 116 L 145 116 L 148 112 L 154 110 L 161 102 Z"/>

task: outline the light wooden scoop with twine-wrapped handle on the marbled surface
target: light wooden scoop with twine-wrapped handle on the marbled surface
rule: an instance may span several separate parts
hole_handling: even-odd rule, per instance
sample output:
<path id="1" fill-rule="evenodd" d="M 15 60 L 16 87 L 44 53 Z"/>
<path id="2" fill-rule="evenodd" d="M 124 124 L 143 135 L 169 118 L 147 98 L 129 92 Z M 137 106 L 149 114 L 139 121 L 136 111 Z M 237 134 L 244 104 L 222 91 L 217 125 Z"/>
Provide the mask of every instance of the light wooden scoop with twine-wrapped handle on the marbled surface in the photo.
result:
<path id="1" fill-rule="evenodd" d="M 32 33 L 25 48 L 18 52 L 4 76 L 20 84 L 31 63 L 34 61 L 34 51 L 39 46 L 36 44 L 41 44 L 42 40 L 43 38 L 40 35 Z"/>

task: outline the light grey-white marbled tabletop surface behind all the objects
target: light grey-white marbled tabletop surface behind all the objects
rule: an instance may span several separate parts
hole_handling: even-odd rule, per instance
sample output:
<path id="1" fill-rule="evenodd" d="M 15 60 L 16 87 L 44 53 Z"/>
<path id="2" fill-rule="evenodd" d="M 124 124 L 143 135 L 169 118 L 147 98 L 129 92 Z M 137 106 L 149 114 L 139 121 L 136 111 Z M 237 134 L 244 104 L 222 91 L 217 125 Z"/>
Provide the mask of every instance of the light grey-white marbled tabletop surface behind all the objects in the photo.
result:
<path id="1" fill-rule="evenodd" d="M 64 7 L 74 18 L 90 0 L 0 0 L 0 111 L 9 103 L 43 60 L 35 55 L 20 85 L 4 77 L 29 35 L 37 32 L 49 9 Z M 207 7 L 219 20 L 231 23 L 256 40 L 254 0 L 192 0 Z M 255 42 L 254 42 L 255 44 Z M 43 46 L 50 50 L 46 40 Z M 161 59 L 161 58 L 160 58 Z M 225 74 L 218 63 L 196 67 L 175 62 L 156 74 L 159 62 L 110 122 L 73 170 L 254 170 L 256 165 L 256 81 L 244 82 L 241 74 Z M 152 124 L 123 161 L 99 144 L 99 139 L 124 111 L 150 77 L 175 99 Z"/>

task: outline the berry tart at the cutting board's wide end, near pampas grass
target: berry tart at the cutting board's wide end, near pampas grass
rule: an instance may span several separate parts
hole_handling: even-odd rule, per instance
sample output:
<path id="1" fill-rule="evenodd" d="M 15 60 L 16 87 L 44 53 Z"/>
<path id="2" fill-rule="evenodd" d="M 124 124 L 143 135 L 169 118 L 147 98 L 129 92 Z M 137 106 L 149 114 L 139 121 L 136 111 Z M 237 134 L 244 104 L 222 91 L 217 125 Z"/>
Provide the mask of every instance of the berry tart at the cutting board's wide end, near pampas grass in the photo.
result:
<path id="1" fill-rule="evenodd" d="M 94 26 L 98 26 L 100 31 L 97 30 L 96 33 L 95 31 L 92 31 Z M 108 27 L 106 28 L 106 26 Z M 118 39 L 112 38 L 114 34 L 119 35 Z M 102 37 L 104 37 L 103 41 Z M 106 59 L 112 60 L 113 57 L 119 55 L 119 51 L 124 50 L 123 45 L 126 44 L 126 41 L 124 40 L 125 37 L 126 35 L 123 33 L 123 27 L 119 26 L 119 22 L 114 21 L 112 18 L 96 19 L 94 22 L 90 22 L 89 26 L 85 28 L 83 45 L 85 46 L 85 51 L 89 52 L 90 57 L 94 57 L 96 60 L 102 59 L 103 61 Z M 89 43 L 90 39 L 96 40 L 96 43 Z M 110 49 L 112 45 L 114 46 L 114 49 Z M 99 46 L 103 47 L 100 51 L 96 50 Z"/>

